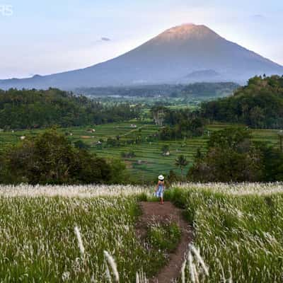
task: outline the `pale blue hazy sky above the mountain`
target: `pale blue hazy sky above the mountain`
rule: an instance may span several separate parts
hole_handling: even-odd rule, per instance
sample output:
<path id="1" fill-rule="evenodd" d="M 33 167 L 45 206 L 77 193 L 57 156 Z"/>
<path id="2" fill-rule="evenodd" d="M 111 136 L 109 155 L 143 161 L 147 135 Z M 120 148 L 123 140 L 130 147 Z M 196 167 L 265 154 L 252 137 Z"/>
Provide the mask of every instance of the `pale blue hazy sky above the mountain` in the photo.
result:
<path id="1" fill-rule="evenodd" d="M 0 79 L 88 67 L 182 23 L 283 65 L 282 0 L 0 0 Z"/>

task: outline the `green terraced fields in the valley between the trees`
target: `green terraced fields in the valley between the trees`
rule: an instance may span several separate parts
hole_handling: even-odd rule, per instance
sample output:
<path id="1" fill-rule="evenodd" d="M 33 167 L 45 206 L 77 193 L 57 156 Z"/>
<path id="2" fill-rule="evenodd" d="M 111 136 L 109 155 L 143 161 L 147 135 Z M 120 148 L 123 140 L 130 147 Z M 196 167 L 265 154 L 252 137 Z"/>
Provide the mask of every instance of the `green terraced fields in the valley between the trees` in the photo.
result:
<path id="1" fill-rule="evenodd" d="M 131 127 L 136 125 L 137 127 Z M 227 124 L 214 124 L 207 126 L 209 132 L 228 127 Z M 96 132 L 90 132 L 90 129 L 95 129 Z M 35 136 L 42 130 L 27 130 L 17 132 L 0 132 L 0 149 L 6 149 L 11 144 L 16 144 L 21 141 L 22 136 Z M 175 158 L 180 154 L 184 154 L 190 164 L 185 168 L 185 171 L 192 164 L 197 149 L 205 151 L 209 134 L 204 137 L 194 137 L 191 139 L 179 139 L 173 141 L 146 141 L 149 135 L 158 131 L 158 127 L 147 121 L 129 121 L 121 123 L 110 123 L 106 125 L 97 125 L 89 127 L 71 127 L 67 129 L 59 129 L 59 132 L 67 134 L 71 141 L 81 139 L 90 146 L 90 150 L 98 156 L 107 158 L 121 158 L 121 154 L 133 151 L 136 155 L 134 158 L 126 158 L 125 163 L 129 172 L 139 180 L 139 182 L 154 180 L 156 175 L 168 174 L 170 170 L 180 173 L 180 170 L 175 167 Z M 128 144 L 127 146 L 110 147 L 98 145 L 98 141 L 108 138 L 116 139 L 120 136 L 120 141 L 127 141 L 141 137 L 141 144 Z M 274 146 L 278 146 L 279 140 L 277 130 L 273 129 L 257 129 L 253 130 L 253 137 L 257 141 L 265 141 Z M 161 148 L 164 144 L 169 145 L 170 156 L 163 156 Z"/>

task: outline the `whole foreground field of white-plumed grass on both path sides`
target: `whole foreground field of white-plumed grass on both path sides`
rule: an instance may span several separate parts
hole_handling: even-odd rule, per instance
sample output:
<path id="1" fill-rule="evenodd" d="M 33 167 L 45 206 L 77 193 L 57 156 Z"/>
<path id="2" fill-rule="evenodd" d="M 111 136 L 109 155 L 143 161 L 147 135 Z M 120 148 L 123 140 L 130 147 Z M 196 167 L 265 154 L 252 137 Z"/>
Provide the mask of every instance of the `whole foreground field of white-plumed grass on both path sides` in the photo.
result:
<path id="1" fill-rule="evenodd" d="M 152 192 L 0 186 L 0 281 L 146 282 L 162 252 L 139 241 L 135 224 Z M 282 282 L 282 183 L 176 184 L 165 197 L 194 229 L 182 282 Z"/>

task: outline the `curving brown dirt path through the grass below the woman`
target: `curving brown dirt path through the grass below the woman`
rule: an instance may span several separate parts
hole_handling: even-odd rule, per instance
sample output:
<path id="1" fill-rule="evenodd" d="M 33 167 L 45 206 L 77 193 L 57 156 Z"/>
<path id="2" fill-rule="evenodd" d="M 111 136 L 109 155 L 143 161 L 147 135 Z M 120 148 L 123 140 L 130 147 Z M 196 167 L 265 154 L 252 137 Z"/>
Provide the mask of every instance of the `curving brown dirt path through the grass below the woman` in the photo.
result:
<path id="1" fill-rule="evenodd" d="M 158 202 L 140 202 L 142 215 L 137 226 L 137 233 L 143 237 L 146 235 L 146 226 L 152 222 L 164 222 L 171 220 L 176 222 L 182 236 L 178 247 L 174 253 L 170 254 L 168 264 L 164 266 L 156 277 L 151 278 L 151 283 L 171 283 L 180 276 L 180 269 L 184 260 L 187 245 L 192 241 L 192 229 L 183 219 L 182 210 L 176 208 L 171 202 L 165 202 L 163 205 Z"/>

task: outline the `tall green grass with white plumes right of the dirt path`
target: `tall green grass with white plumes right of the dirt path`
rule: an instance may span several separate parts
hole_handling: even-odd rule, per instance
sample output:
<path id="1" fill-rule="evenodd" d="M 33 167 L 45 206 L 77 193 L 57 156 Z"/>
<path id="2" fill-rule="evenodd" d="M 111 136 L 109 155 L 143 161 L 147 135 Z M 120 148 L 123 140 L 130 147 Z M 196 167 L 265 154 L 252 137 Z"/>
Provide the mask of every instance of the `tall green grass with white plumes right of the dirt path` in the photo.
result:
<path id="1" fill-rule="evenodd" d="M 281 192 L 265 195 L 260 194 L 264 185 L 253 185 L 259 187 L 254 194 L 249 185 L 238 193 L 217 186 L 192 185 L 166 194 L 185 208 L 195 228 L 195 246 L 209 266 L 209 277 L 199 272 L 200 282 L 282 282 L 282 186 Z"/>

